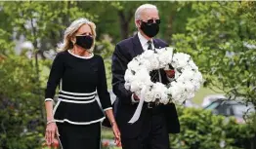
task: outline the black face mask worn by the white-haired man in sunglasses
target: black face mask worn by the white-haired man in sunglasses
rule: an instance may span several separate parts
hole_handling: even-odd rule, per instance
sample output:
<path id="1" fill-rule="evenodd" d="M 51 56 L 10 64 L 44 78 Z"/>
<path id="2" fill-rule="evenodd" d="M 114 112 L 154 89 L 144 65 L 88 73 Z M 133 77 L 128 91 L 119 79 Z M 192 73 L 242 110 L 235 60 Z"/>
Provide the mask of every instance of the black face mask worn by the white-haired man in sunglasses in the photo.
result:
<path id="1" fill-rule="evenodd" d="M 145 22 L 145 21 L 141 21 L 141 22 L 142 22 L 141 23 L 141 29 L 150 38 L 154 37 L 158 33 L 159 24 L 157 24 L 157 23 L 148 23 L 148 22 Z"/>

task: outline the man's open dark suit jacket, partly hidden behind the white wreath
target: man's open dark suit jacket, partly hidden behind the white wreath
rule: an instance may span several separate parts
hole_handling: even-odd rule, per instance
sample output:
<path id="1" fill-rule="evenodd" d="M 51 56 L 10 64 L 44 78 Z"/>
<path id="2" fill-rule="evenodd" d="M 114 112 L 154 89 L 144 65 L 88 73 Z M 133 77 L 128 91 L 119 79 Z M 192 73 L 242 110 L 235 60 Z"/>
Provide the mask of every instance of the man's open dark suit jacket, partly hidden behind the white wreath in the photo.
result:
<path id="1" fill-rule="evenodd" d="M 155 48 L 164 48 L 168 45 L 160 40 L 153 39 Z M 138 103 L 131 101 L 132 93 L 124 88 L 124 74 L 127 69 L 127 64 L 132 60 L 133 57 L 141 55 L 144 52 L 140 43 L 139 37 L 135 36 L 125 39 L 119 42 L 112 56 L 112 87 L 113 93 L 115 93 L 116 101 L 114 103 L 114 113 L 119 129 L 124 137 L 136 137 L 140 133 L 142 128 L 142 120 L 145 113 L 145 108 L 142 110 L 141 117 L 134 124 L 128 124 L 132 118 Z M 162 83 L 167 84 L 168 80 L 163 70 L 160 71 L 162 77 Z M 166 118 L 167 129 L 170 133 L 180 132 L 180 123 L 176 107 L 173 103 L 167 105 L 161 105 Z"/>

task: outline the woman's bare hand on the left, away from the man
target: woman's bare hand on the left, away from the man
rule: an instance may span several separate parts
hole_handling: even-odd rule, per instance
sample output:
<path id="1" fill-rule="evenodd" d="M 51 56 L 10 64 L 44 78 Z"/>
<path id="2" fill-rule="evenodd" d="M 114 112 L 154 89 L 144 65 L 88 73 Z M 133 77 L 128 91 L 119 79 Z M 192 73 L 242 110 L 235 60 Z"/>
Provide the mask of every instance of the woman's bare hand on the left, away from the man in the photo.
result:
<path id="1" fill-rule="evenodd" d="M 60 135 L 56 123 L 50 123 L 46 126 L 45 139 L 48 146 L 54 142 L 55 135 Z"/>

